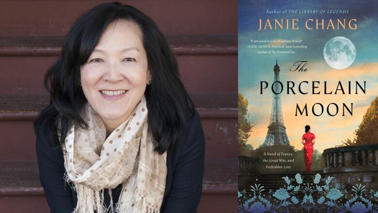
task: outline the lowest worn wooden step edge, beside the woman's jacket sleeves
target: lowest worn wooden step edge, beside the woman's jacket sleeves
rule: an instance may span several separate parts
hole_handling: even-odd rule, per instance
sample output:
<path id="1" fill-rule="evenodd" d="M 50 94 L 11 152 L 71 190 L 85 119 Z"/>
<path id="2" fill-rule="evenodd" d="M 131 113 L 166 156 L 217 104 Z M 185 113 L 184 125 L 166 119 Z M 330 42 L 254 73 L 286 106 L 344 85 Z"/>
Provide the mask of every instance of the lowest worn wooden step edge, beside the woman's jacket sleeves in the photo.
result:
<path id="1" fill-rule="evenodd" d="M 206 159 L 203 194 L 236 193 L 235 168 L 237 159 Z M 41 195 L 44 192 L 36 161 L 0 161 L 0 196 Z"/>

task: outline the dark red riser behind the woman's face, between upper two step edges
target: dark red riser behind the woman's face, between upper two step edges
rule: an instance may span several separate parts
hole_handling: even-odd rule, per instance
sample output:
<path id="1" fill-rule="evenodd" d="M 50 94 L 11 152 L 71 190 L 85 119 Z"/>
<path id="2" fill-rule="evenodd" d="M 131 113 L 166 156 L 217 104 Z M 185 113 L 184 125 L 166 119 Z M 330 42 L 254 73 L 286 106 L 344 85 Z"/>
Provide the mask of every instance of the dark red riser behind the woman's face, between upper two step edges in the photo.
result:
<path id="1" fill-rule="evenodd" d="M 51 56 L 0 57 L 0 95 L 45 93 L 43 77 L 55 60 Z M 237 90 L 236 55 L 181 55 L 177 60 L 189 93 Z"/>

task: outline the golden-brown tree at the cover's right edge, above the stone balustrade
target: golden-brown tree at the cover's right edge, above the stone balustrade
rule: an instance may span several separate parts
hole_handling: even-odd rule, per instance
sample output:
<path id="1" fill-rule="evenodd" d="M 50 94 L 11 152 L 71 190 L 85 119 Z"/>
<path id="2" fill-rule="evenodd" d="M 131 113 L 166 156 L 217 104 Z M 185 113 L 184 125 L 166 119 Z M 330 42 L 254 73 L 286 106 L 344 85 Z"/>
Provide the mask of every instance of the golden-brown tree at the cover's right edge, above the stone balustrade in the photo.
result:
<path id="1" fill-rule="evenodd" d="M 363 115 L 362 122 L 354 131 L 353 140 L 347 139 L 343 143 L 347 146 L 368 145 L 378 143 L 378 97 L 371 102 Z"/>

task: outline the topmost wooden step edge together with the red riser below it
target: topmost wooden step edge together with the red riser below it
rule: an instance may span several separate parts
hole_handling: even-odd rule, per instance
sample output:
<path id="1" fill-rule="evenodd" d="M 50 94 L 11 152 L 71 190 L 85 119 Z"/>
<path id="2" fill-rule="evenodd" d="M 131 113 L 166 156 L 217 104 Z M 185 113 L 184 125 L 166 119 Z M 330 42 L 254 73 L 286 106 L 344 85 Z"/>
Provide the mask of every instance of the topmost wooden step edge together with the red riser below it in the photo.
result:
<path id="1" fill-rule="evenodd" d="M 190 93 L 237 91 L 236 35 L 170 36 L 169 42 Z M 0 37 L 0 95 L 45 93 L 44 75 L 62 44 L 63 37 Z"/>

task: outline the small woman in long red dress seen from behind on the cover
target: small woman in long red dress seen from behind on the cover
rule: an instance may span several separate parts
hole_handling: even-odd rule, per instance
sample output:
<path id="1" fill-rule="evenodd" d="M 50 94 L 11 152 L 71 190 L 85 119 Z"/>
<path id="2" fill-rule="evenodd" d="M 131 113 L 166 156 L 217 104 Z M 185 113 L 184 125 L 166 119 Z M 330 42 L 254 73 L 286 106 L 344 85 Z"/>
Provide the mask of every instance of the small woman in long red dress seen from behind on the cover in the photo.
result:
<path id="1" fill-rule="evenodd" d="M 315 134 L 311 133 L 311 128 L 309 125 L 304 127 L 306 133 L 302 136 L 303 154 L 304 154 L 304 165 L 306 167 L 306 172 L 311 173 L 311 164 L 313 163 L 313 153 L 315 144 Z"/>

